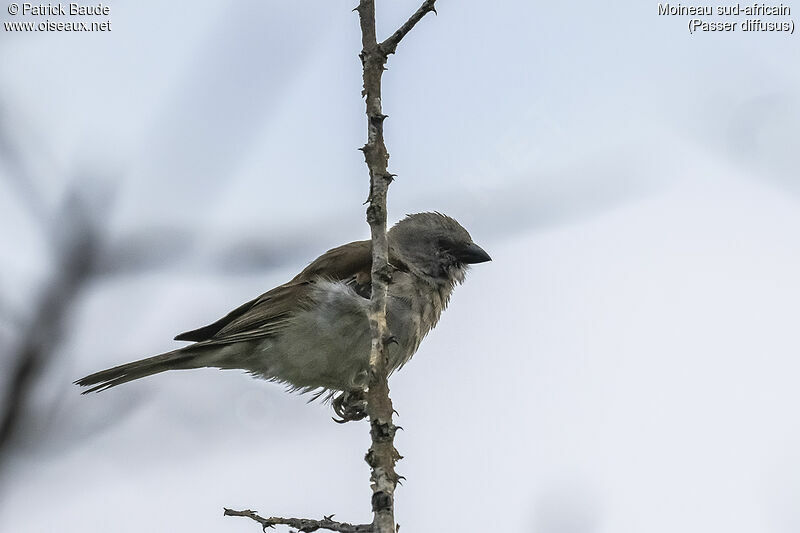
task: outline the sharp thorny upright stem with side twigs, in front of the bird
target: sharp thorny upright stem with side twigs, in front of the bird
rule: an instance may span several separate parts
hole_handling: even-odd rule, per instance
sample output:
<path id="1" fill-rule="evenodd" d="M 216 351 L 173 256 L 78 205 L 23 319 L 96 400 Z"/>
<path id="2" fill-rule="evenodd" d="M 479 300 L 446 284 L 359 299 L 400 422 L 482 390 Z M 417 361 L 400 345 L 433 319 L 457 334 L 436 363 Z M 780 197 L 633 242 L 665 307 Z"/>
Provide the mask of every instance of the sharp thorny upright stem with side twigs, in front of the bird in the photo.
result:
<path id="1" fill-rule="evenodd" d="M 367 142 L 361 151 L 364 152 L 364 159 L 369 169 L 367 222 L 372 238 L 372 297 L 368 312 L 372 343 L 369 355 L 369 388 L 366 394 L 372 445 L 365 457 L 371 469 L 372 523 L 353 526 L 333 522 L 330 517 L 324 520 L 262 518 L 249 510 L 225 509 L 227 516 L 249 517 L 260 523 L 264 529 L 284 524 L 296 527 L 300 531 L 318 529 L 370 533 L 397 531 L 394 520 L 394 491 L 400 476 L 395 472 L 394 466 L 401 457 L 394 447 L 397 427 L 392 420 L 394 408 L 389 397 L 389 364 L 386 353 L 386 346 L 392 342 L 391 333 L 386 325 L 386 295 L 391 281 L 389 243 L 386 237 L 386 196 L 394 176 L 388 171 L 389 152 L 383 136 L 386 115 L 381 109 L 381 80 L 389 55 L 394 53 L 398 43 L 425 14 L 434 11 L 434 2 L 435 0 L 425 0 L 400 29 L 380 44 L 376 37 L 375 0 L 360 0 L 356 8 L 361 25 L 362 50 L 359 57 L 363 67 L 362 95 L 366 97 L 367 114 Z"/>

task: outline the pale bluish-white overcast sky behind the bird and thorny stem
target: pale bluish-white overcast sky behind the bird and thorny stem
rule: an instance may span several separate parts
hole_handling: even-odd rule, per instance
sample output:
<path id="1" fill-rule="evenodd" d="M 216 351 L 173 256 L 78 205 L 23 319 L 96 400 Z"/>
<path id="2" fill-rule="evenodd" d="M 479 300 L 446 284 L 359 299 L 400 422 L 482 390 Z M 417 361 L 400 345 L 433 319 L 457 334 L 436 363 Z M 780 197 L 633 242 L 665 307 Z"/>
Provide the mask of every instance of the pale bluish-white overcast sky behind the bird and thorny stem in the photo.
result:
<path id="1" fill-rule="evenodd" d="M 102 240 L 0 458 L 0 531 L 369 521 L 367 427 L 327 406 L 235 371 L 71 384 L 368 236 L 354 4 L 0 31 L 0 388 L 66 197 Z M 379 35 L 417 7 L 378 0 Z M 800 37 L 690 35 L 656 2 L 437 8 L 384 76 L 390 219 L 445 212 L 493 261 L 393 377 L 403 530 L 800 529 Z"/>

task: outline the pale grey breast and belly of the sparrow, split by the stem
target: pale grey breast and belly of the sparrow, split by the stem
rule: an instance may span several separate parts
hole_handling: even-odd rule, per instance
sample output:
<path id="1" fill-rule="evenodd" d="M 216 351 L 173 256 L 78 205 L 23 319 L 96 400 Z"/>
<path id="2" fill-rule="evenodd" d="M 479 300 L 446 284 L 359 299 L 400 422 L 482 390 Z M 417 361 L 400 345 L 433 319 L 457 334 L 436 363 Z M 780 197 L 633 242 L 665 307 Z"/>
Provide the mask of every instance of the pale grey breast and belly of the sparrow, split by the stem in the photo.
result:
<path id="1" fill-rule="evenodd" d="M 354 390 L 369 380 L 369 300 L 341 281 L 320 279 L 310 305 L 286 329 L 265 340 L 251 371 L 301 390 Z M 386 321 L 397 342 L 387 346 L 392 370 L 402 367 L 436 325 L 449 299 L 413 274 L 398 272 L 389 286 Z"/>

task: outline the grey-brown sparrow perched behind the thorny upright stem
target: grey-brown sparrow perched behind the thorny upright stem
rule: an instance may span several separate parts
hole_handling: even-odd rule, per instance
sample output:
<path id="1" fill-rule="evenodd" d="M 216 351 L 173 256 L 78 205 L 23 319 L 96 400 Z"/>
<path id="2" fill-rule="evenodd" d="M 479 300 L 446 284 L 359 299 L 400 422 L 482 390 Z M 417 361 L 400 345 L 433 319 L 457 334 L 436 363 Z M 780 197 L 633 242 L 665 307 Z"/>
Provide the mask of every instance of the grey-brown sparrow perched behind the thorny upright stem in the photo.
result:
<path id="1" fill-rule="evenodd" d="M 386 321 L 389 366 L 403 366 L 447 307 L 467 267 L 490 261 L 467 230 L 440 213 L 409 215 L 387 234 Z M 343 420 L 363 418 L 369 381 L 372 246 L 356 241 L 333 248 L 300 274 L 175 340 L 193 344 L 96 372 L 75 383 L 101 391 L 166 370 L 243 369 L 256 377 L 332 398 Z"/>

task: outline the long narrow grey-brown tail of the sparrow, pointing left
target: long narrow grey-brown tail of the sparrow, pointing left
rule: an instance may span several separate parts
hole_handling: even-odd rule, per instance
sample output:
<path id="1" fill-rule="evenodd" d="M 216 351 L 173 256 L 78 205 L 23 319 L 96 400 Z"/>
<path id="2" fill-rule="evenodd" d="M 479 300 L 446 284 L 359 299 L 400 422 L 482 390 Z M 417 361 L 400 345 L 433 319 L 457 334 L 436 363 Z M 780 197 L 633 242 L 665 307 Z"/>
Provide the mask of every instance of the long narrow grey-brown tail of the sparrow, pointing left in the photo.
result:
<path id="1" fill-rule="evenodd" d="M 134 361 L 132 363 L 95 372 L 94 374 L 77 380 L 75 384 L 81 387 L 94 385 L 91 389 L 83 391 L 83 394 L 100 392 L 133 381 L 134 379 L 160 374 L 167 370 L 183 370 L 209 366 L 210 361 L 208 357 L 204 357 L 207 355 L 209 355 L 209 347 L 187 346 L 154 357 L 148 357 L 140 361 Z"/>

